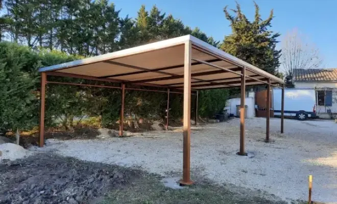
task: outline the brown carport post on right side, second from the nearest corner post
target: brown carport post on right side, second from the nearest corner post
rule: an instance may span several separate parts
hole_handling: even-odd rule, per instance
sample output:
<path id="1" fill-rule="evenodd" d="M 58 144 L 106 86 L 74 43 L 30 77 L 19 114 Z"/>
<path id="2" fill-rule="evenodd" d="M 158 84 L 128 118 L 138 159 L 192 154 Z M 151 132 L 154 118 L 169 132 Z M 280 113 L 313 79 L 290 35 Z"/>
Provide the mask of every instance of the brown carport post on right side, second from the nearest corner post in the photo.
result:
<path id="1" fill-rule="evenodd" d="M 246 67 L 242 68 L 241 73 L 241 104 L 240 104 L 240 151 L 238 155 L 247 156 L 245 152 L 245 99 L 246 99 Z"/>

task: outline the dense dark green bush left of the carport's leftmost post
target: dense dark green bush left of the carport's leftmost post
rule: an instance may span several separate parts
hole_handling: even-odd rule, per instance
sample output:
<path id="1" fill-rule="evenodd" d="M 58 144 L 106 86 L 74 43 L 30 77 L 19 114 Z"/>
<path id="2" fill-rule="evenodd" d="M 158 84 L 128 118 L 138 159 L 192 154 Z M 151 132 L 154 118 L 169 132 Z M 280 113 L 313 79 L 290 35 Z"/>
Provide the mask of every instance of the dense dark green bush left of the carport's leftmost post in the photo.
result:
<path id="1" fill-rule="evenodd" d="M 0 46 L 0 130 L 29 129 L 37 122 L 37 99 L 33 88 L 37 78 L 21 67 L 25 60 L 15 50 Z M 5 55 L 4 55 L 5 54 Z M 38 63 L 36 64 L 38 66 Z"/>

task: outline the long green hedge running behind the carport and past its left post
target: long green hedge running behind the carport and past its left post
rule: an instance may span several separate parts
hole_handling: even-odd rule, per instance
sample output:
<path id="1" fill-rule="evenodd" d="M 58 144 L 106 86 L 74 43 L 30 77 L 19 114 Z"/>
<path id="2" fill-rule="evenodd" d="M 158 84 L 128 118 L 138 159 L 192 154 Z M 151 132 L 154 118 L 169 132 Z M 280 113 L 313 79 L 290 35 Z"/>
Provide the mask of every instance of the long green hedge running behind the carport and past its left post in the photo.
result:
<path id="1" fill-rule="evenodd" d="M 0 129 L 2 132 L 29 130 L 38 125 L 40 76 L 38 69 L 82 59 L 58 51 L 33 50 L 15 43 L 0 43 Z M 53 78 L 53 79 L 51 79 Z M 48 77 L 52 81 L 96 83 L 80 79 Z M 102 84 L 102 83 L 100 83 Z M 104 83 L 105 85 L 114 85 Z M 118 85 L 119 86 L 119 85 Z M 146 88 L 146 87 L 142 87 Z M 211 117 L 225 107 L 227 90 L 199 91 L 199 115 Z M 170 119 L 182 117 L 183 95 L 170 95 Z M 163 119 L 166 93 L 127 90 L 125 115 L 132 118 Z M 194 95 L 192 95 L 194 107 Z M 110 126 L 119 118 L 121 92 L 118 89 L 47 85 L 45 125 L 61 123 L 65 128 L 73 125 L 73 118 L 102 117 L 102 126 Z M 192 114 L 194 113 L 192 108 Z"/>

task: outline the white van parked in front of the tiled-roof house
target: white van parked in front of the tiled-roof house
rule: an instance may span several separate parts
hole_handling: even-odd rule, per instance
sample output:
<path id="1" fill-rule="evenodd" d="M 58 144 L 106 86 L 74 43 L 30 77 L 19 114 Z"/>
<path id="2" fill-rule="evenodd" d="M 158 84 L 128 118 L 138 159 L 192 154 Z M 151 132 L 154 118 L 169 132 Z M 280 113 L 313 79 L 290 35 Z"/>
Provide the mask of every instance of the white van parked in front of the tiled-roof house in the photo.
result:
<path id="1" fill-rule="evenodd" d="M 281 116 L 282 89 L 273 89 L 274 115 Z M 284 116 L 296 117 L 299 120 L 316 118 L 315 89 L 285 88 Z"/>

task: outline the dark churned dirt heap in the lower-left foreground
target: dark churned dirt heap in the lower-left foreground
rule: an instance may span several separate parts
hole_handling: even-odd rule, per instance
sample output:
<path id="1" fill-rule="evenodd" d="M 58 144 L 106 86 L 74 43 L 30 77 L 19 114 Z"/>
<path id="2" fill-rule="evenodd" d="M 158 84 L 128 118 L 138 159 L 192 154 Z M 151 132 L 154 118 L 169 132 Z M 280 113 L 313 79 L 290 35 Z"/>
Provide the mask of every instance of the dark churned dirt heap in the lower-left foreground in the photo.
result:
<path id="1" fill-rule="evenodd" d="M 136 174 L 113 165 L 35 155 L 0 168 L 0 203 L 89 203 Z"/>

